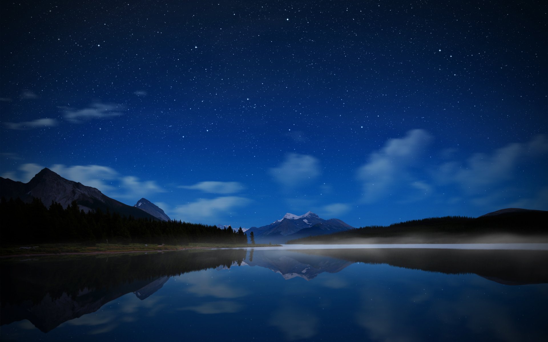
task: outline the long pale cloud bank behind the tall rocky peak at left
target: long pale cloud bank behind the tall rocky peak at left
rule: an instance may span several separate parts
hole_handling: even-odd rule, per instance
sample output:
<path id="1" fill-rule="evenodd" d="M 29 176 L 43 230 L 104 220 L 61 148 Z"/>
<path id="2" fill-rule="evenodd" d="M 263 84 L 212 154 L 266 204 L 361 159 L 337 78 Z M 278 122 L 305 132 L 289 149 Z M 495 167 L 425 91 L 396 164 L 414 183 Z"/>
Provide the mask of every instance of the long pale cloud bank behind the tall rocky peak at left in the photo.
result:
<path id="1" fill-rule="evenodd" d="M 22 164 L 18 172 L 5 172 L 2 177 L 27 183 L 43 168 L 44 166 L 38 164 Z M 49 169 L 70 181 L 97 188 L 112 198 L 136 201 L 142 197 L 165 192 L 154 181 L 140 181 L 135 176 L 120 175 L 109 166 L 54 164 Z"/>

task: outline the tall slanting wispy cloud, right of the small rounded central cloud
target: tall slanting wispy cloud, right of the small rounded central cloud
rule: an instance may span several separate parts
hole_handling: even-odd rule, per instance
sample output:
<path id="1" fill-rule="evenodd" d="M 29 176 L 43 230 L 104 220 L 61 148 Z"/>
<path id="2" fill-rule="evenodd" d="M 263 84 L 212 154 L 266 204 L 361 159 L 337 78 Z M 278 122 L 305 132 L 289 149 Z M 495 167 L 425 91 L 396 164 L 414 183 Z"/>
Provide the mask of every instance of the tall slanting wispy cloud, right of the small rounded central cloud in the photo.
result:
<path id="1" fill-rule="evenodd" d="M 370 154 L 368 162 L 358 170 L 358 179 L 363 182 L 364 201 L 374 202 L 383 198 L 402 182 L 416 182 L 410 173 L 431 140 L 428 132 L 415 129 L 403 138 L 388 140 L 378 152 Z"/>

